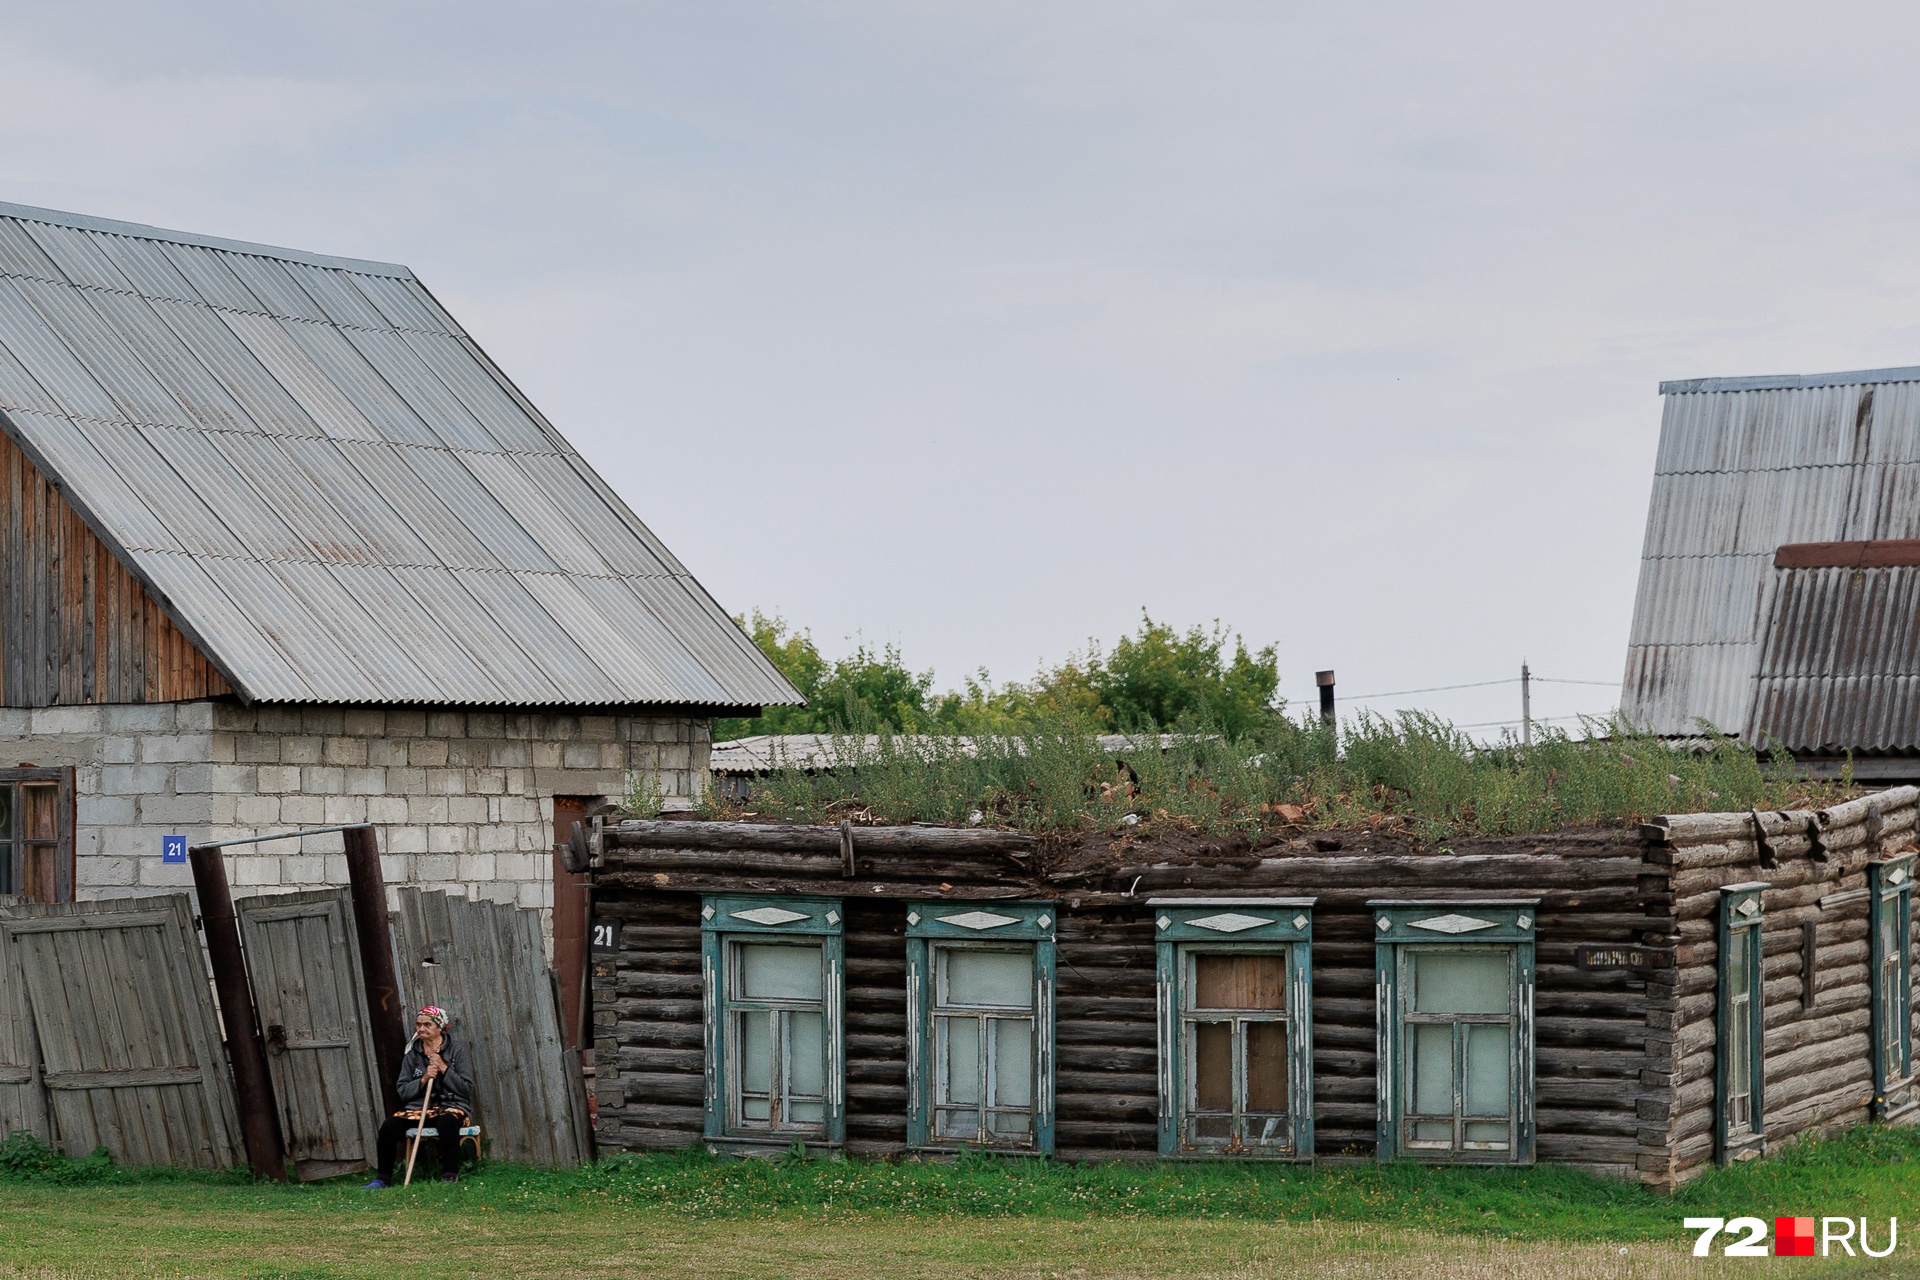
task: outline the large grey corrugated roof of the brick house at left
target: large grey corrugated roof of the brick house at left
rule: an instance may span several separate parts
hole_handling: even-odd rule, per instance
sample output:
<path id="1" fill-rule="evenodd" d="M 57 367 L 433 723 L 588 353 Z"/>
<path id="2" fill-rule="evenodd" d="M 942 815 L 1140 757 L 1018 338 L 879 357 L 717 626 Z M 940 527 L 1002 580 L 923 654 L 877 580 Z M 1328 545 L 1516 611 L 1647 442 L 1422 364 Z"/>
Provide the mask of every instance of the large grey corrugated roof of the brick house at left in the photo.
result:
<path id="1" fill-rule="evenodd" d="M 0 203 L 0 411 L 253 700 L 801 700 L 405 267 Z"/>

